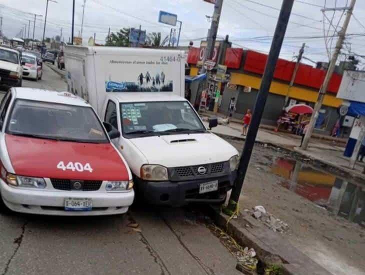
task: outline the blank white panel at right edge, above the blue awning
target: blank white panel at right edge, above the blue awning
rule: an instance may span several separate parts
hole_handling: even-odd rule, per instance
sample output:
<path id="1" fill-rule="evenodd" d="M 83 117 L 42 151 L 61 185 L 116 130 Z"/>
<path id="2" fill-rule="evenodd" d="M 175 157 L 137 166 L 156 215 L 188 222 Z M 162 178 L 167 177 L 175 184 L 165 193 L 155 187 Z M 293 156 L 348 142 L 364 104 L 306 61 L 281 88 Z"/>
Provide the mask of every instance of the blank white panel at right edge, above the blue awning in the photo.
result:
<path id="1" fill-rule="evenodd" d="M 345 70 L 337 98 L 365 103 L 365 71 Z"/>

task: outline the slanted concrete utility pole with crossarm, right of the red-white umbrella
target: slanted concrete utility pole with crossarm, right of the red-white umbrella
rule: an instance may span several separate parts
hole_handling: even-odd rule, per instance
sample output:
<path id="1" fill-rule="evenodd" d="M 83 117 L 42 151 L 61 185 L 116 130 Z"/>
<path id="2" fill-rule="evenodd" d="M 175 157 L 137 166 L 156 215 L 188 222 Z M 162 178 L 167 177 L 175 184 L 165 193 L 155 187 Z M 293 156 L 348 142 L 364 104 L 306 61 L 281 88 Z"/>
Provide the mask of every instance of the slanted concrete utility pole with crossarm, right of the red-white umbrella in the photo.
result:
<path id="1" fill-rule="evenodd" d="M 344 19 L 342 28 L 338 32 L 338 40 L 337 40 L 337 43 L 336 43 L 336 47 L 333 51 L 332 58 L 329 62 L 327 73 L 324 77 L 324 81 L 322 83 L 322 86 L 319 89 L 317 102 L 314 105 L 314 110 L 313 110 L 312 116 L 310 118 L 308 129 L 305 133 L 305 136 L 304 136 L 304 139 L 303 139 L 303 144 L 301 146 L 301 148 L 303 150 L 306 150 L 308 148 L 309 139 L 310 139 L 310 136 L 312 135 L 313 128 L 314 128 L 314 125 L 315 125 L 315 121 L 318 118 L 319 110 L 320 110 L 320 107 L 322 106 L 324 95 L 327 91 L 327 87 L 328 87 L 328 84 L 329 84 L 329 80 L 330 80 L 330 78 L 332 76 L 332 73 L 334 71 L 334 68 L 336 66 L 337 57 L 338 57 L 340 49 L 342 48 L 343 41 L 345 39 L 347 26 L 348 26 L 348 23 L 350 21 L 350 18 L 351 18 L 351 15 L 352 15 L 352 10 L 353 10 L 353 7 L 355 5 L 355 2 L 356 2 L 356 0 L 351 0 L 351 3 L 349 5 L 349 7 L 343 7 L 342 8 L 342 9 L 347 9 L 346 17 Z M 322 9 L 323 12 L 326 11 L 326 10 L 329 10 L 329 9 Z M 333 10 L 333 9 L 330 9 L 330 10 Z"/>

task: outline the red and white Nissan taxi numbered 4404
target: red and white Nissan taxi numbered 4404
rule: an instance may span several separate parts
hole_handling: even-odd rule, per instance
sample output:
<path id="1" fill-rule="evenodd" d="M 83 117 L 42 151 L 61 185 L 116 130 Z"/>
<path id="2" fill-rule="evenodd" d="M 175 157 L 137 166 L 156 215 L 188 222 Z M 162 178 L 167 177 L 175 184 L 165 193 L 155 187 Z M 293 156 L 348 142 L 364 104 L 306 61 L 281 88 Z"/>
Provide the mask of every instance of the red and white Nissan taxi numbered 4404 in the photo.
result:
<path id="1" fill-rule="evenodd" d="M 125 213 L 134 192 L 131 172 L 110 142 L 119 135 L 71 93 L 11 88 L 0 104 L 0 207 Z"/>

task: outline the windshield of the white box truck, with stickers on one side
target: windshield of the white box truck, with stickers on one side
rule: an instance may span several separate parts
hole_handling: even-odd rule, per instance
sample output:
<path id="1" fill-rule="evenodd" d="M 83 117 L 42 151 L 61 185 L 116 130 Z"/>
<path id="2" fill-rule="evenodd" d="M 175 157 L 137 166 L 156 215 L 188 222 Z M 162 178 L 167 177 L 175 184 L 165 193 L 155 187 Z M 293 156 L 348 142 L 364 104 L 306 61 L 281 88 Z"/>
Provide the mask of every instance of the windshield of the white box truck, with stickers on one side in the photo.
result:
<path id="1" fill-rule="evenodd" d="M 186 101 L 120 103 L 125 135 L 160 135 L 206 132 Z"/>

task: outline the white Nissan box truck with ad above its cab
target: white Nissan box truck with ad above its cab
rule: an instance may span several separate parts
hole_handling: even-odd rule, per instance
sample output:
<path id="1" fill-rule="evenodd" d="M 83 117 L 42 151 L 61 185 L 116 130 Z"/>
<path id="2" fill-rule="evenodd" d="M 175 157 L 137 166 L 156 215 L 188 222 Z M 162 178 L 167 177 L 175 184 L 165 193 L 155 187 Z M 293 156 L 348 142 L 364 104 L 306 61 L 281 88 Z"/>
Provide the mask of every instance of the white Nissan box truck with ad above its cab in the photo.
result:
<path id="1" fill-rule="evenodd" d="M 126 159 L 136 196 L 152 204 L 222 203 L 238 151 L 207 131 L 184 97 L 183 51 L 66 46 L 68 90 L 86 99 Z"/>

